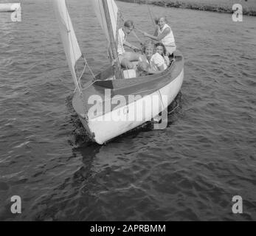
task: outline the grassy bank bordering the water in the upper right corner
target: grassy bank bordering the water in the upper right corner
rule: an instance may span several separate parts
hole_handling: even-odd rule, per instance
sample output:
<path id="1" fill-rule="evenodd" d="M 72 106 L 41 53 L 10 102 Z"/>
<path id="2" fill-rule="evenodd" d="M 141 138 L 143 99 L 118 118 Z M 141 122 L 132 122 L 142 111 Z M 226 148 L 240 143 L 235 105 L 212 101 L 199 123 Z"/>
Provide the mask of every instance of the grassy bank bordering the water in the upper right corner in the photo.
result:
<path id="1" fill-rule="evenodd" d="M 207 10 L 218 13 L 233 13 L 233 4 L 241 4 L 243 15 L 256 16 L 255 0 L 119 0 L 138 4 L 154 4 L 161 7 L 187 8 L 193 10 Z"/>

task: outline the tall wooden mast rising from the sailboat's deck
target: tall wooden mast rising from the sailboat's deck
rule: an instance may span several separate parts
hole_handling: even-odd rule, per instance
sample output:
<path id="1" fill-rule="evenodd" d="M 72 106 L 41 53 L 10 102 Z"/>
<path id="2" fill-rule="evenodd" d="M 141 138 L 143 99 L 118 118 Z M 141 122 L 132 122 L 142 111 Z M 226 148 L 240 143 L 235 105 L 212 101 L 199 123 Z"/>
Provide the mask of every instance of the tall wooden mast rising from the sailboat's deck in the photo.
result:
<path id="1" fill-rule="evenodd" d="M 109 36 L 109 40 L 110 40 L 110 48 L 111 48 L 111 56 L 113 57 L 114 60 L 117 61 L 117 68 L 114 71 L 114 74 L 117 78 L 123 79 L 123 74 L 122 71 L 120 69 L 120 61 L 118 59 L 118 53 L 117 53 L 117 47 L 116 47 L 116 43 L 114 40 L 114 33 L 113 33 L 113 29 L 112 29 L 112 24 L 111 24 L 111 16 L 109 14 L 109 9 L 108 9 L 108 2 L 107 0 L 102 0 L 103 2 L 103 9 L 104 9 L 104 13 L 105 13 L 105 21 L 108 27 L 108 36 Z M 118 41 L 118 38 L 117 38 Z"/>

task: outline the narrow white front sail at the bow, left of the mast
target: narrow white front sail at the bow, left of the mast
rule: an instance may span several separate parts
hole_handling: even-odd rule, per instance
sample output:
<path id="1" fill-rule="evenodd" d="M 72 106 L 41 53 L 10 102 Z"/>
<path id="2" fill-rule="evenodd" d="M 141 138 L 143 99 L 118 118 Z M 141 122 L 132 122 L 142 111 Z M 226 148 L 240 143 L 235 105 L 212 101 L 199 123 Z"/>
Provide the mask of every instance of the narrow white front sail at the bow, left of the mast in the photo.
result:
<path id="1" fill-rule="evenodd" d="M 66 59 L 68 60 L 69 69 L 71 71 L 75 86 L 79 89 L 77 76 L 75 73 L 75 63 L 81 57 L 82 53 L 75 37 L 72 21 L 66 8 L 65 0 L 53 0 L 55 15 L 60 27 L 61 40 L 63 42 Z"/>

